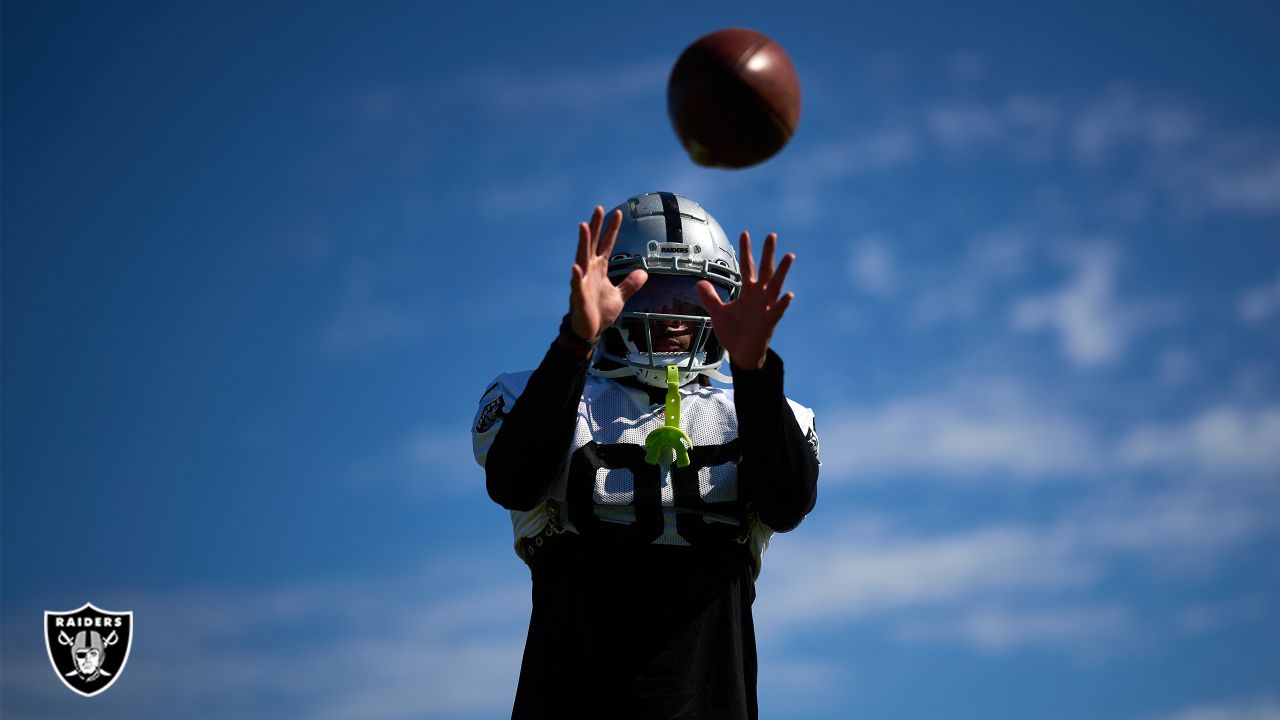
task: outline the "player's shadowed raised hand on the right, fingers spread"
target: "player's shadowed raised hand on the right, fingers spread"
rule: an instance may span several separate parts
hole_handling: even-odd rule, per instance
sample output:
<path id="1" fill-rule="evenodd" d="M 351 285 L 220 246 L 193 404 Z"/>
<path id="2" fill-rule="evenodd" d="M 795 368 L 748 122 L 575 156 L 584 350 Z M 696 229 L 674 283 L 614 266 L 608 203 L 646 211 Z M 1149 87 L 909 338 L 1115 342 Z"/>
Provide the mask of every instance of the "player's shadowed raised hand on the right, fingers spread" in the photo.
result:
<path id="1" fill-rule="evenodd" d="M 787 252 L 774 268 L 773 251 L 777 242 L 777 233 L 769 233 L 764 238 L 764 252 L 760 254 L 760 268 L 756 272 L 755 260 L 751 258 L 751 236 L 742 233 L 739 243 L 742 292 L 737 299 L 722 302 L 712 283 L 708 281 L 698 283 L 698 297 L 712 316 L 716 337 L 728 351 L 733 365 L 745 370 L 758 370 L 764 366 L 773 329 L 778 327 L 778 320 L 795 297 L 794 292 L 780 296 L 782 282 L 796 256 Z"/>

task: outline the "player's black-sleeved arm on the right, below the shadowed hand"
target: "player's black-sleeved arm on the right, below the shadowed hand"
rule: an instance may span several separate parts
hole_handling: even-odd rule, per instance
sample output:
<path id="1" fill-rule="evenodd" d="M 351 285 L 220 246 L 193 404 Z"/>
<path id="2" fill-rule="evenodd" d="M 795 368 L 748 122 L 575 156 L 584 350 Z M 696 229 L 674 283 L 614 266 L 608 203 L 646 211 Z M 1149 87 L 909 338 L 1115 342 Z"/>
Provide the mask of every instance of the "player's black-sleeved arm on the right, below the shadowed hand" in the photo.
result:
<path id="1" fill-rule="evenodd" d="M 818 491 L 818 459 L 782 393 L 782 374 L 772 350 L 759 370 L 733 366 L 739 487 L 760 520 L 780 532 L 800 524 Z"/>

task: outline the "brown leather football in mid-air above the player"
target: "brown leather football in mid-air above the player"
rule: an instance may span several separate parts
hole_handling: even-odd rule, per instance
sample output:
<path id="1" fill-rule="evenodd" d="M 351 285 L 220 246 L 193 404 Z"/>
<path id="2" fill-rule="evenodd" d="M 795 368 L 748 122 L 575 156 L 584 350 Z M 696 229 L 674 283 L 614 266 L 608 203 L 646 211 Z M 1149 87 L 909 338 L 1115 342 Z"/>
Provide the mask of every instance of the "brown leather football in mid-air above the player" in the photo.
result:
<path id="1" fill-rule="evenodd" d="M 791 140 L 800 123 L 800 78 L 782 46 L 767 36 L 719 29 L 676 60 L 667 111 L 695 163 L 746 168 Z"/>

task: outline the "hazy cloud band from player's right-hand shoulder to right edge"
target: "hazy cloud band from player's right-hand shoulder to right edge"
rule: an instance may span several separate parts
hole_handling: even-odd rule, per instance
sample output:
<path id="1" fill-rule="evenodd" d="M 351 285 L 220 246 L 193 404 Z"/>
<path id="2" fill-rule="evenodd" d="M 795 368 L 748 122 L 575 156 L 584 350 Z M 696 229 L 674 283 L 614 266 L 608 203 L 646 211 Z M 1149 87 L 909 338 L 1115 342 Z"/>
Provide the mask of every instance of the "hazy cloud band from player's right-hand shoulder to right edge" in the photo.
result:
<path id="1" fill-rule="evenodd" d="M 1025 383 L 969 377 L 877 405 L 823 407 L 819 423 L 826 482 L 1280 474 L 1275 405 L 1224 401 L 1181 418 L 1105 429 Z"/>

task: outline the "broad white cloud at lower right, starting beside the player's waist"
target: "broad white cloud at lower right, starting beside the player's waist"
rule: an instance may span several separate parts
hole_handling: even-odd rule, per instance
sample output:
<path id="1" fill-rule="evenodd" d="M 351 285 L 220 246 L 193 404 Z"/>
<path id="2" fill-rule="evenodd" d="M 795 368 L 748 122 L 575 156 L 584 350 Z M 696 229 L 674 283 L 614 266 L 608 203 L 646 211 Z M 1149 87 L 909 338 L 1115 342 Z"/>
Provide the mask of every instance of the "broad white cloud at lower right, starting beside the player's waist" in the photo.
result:
<path id="1" fill-rule="evenodd" d="M 1193 582 L 1233 548 L 1274 534 L 1280 520 L 1275 489 L 1096 495 L 1044 524 L 934 534 L 904 532 L 886 518 L 813 516 L 806 534 L 781 538 L 765 553 L 758 626 L 771 641 L 874 623 L 902 642 L 1093 652 L 1157 623 L 1100 600 L 1108 578 L 1148 571 Z"/>

